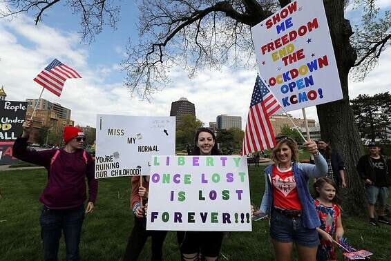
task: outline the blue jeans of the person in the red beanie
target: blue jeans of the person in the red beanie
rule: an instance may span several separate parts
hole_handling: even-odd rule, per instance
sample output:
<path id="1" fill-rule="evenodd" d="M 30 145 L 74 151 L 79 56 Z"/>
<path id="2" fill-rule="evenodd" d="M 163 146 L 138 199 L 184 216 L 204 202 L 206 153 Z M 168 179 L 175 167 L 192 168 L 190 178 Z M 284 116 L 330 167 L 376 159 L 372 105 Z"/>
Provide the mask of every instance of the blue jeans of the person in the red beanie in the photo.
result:
<path id="1" fill-rule="evenodd" d="M 73 209 L 48 209 L 42 206 L 41 238 L 45 260 L 57 260 L 61 231 L 64 232 L 66 260 L 80 260 L 79 242 L 84 220 L 84 204 Z"/>

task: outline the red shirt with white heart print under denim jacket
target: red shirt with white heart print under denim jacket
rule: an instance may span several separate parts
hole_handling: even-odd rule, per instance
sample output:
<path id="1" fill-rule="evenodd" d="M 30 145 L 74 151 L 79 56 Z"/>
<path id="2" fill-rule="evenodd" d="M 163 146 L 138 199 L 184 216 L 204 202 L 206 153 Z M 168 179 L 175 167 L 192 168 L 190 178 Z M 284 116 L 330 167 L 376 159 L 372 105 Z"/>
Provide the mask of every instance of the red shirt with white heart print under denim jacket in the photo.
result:
<path id="1" fill-rule="evenodd" d="M 280 209 L 301 210 L 292 168 L 281 171 L 276 165 L 271 171 L 273 204 Z"/>

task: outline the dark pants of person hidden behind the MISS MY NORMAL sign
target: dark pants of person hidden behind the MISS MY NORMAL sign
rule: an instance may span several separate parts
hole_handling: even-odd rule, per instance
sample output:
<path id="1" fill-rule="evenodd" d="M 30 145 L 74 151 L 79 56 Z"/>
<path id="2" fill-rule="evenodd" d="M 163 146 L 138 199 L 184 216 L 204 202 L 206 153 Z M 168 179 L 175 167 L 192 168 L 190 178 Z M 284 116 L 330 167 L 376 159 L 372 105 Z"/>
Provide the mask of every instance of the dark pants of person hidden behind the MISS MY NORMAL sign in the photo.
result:
<path id="1" fill-rule="evenodd" d="M 133 261 L 137 260 L 144 244 L 146 238 L 151 236 L 152 246 L 151 246 L 151 260 L 158 261 L 162 260 L 163 255 L 163 242 L 166 238 L 167 231 L 146 231 L 146 218 L 136 218 L 135 225 L 128 239 L 128 245 L 126 246 L 126 251 L 124 255 L 124 261 Z"/>

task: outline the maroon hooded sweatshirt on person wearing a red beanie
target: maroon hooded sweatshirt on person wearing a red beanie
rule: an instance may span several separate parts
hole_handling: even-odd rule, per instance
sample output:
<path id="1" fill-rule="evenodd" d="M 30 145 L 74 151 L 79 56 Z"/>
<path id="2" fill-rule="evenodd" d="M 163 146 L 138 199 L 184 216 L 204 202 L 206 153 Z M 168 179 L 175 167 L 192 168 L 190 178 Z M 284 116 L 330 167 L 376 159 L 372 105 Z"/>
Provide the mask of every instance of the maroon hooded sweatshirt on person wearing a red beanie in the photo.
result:
<path id="1" fill-rule="evenodd" d="M 59 149 L 55 161 L 50 166 L 57 150 L 30 151 L 27 140 L 18 137 L 12 149 L 12 155 L 24 162 L 44 166 L 48 171 L 48 183 L 39 197 L 48 209 L 72 209 L 86 201 L 86 177 L 88 181 L 88 202 L 95 202 L 98 182 L 95 180 L 95 162 L 87 154 L 87 162 L 83 150 L 67 153 Z"/>

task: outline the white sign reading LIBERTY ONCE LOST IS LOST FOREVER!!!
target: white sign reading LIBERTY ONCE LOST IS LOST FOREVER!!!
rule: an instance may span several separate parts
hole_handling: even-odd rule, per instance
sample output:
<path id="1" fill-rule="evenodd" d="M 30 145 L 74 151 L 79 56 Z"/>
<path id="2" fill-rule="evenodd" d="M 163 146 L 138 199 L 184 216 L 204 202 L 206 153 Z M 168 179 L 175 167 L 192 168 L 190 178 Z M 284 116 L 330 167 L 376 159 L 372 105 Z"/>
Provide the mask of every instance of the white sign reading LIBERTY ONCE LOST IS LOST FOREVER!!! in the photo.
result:
<path id="1" fill-rule="evenodd" d="M 153 156 L 147 230 L 251 231 L 247 158 Z"/>

